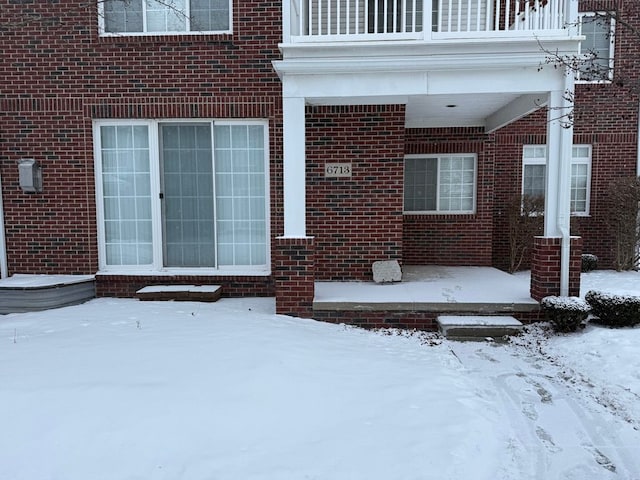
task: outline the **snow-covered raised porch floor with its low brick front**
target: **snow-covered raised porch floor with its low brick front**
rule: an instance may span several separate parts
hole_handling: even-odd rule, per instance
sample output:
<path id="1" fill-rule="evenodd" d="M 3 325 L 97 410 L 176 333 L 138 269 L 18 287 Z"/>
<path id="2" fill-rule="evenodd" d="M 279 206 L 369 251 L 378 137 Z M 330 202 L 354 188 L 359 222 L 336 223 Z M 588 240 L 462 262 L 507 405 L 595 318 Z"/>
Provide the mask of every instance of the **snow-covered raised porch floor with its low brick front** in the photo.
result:
<path id="1" fill-rule="evenodd" d="M 542 319 L 530 275 L 491 267 L 405 266 L 399 283 L 315 282 L 313 318 L 367 328 L 436 330 L 442 315 Z"/>

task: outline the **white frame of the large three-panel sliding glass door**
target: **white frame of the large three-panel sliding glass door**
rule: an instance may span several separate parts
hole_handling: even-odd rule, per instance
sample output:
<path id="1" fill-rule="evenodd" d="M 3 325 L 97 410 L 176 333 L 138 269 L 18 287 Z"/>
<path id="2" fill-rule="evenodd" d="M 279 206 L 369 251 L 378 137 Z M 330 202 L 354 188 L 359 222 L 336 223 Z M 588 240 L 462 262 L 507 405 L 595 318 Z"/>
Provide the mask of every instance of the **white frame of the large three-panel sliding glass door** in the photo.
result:
<path id="1" fill-rule="evenodd" d="M 160 145 L 159 131 L 162 124 L 176 123 L 209 123 L 212 126 L 212 142 L 214 141 L 213 126 L 225 125 L 261 125 L 264 133 L 264 168 L 265 168 L 265 265 L 222 265 L 215 267 L 165 267 L 163 252 L 163 217 L 162 201 L 160 195 Z M 102 145 L 100 128 L 103 126 L 146 126 L 149 132 L 149 166 L 151 181 L 151 217 L 152 217 L 152 243 L 153 262 L 148 265 L 108 265 L 106 262 L 106 232 L 105 212 L 102 186 Z M 95 195 L 96 195 L 96 221 L 98 234 L 98 267 L 101 273 L 118 274 L 175 274 L 175 275 L 268 275 L 271 271 L 271 201 L 270 201 L 270 174 L 269 174 L 269 122 L 262 119 L 161 119 L 161 120 L 94 120 L 93 121 L 93 145 L 94 145 L 94 170 L 95 170 Z M 215 150 L 215 144 L 212 143 Z M 215 161 L 214 161 L 215 175 Z M 215 212 L 215 211 L 214 211 Z M 216 215 L 212 222 L 216 222 Z M 214 241 L 217 248 L 217 229 Z"/>

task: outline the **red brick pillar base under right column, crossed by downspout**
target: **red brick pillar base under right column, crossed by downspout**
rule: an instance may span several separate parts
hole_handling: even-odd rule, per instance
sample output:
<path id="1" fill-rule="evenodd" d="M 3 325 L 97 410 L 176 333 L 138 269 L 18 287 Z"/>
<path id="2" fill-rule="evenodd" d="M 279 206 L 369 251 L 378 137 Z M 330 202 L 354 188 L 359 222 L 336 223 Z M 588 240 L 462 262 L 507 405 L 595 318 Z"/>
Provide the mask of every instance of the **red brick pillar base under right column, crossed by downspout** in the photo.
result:
<path id="1" fill-rule="evenodd" d="M 531 254 L 531 296 L 540 301 L 560 295 L 560 237 L 535 237 Z M 580 295 L 582 238 L 571 237 L 569 258 L 569 296 Z"/>

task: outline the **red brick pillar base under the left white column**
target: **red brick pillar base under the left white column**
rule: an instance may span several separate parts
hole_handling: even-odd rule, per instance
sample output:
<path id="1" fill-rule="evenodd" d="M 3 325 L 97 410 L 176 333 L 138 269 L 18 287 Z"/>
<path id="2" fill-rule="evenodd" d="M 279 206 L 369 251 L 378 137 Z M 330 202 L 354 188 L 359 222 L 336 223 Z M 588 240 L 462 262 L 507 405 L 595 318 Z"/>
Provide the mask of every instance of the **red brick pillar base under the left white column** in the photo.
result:
<path id="1" fill-rule="evenodd" d="M 275 269 L 276 313 L 311 318 L 315 281 L 313 237 L 276 239 Z"/>

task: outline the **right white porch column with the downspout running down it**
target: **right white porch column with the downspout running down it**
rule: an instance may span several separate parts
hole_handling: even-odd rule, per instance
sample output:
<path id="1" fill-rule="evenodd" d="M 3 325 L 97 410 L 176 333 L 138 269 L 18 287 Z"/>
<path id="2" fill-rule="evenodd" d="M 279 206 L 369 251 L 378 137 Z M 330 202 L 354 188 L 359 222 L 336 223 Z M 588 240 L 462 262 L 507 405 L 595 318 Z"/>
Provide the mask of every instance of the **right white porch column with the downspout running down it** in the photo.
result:
<path id="1" fill-rule="evenodd" d="M 571 156 L 573 147 L 573 77 L 565 82 L 566 91 L 549 94 L 547 121 L 547 184 L 545 194 L 545 237 L 561 237 L 560 295 L 569 292 L 569 242 L 571 219 Z"/>

